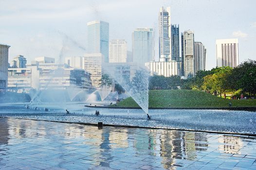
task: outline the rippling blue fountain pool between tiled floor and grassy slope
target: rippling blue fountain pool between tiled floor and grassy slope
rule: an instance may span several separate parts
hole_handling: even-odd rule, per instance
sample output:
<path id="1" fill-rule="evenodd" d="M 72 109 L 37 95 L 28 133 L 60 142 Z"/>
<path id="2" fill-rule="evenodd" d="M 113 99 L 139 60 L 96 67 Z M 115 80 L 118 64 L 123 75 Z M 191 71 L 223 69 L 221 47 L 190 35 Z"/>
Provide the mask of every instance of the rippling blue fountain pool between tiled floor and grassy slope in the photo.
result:
<path id="1" fill-rule="evenodd" d="M 47 119 L 72 122 L 132 125 L 145 127 L 164 127 L 193 129 L 202 131 L 238 132 L 256 134 L 256 112 L 227 110 L 149 110 L 151 120 L 138 109 L 100 109 L 86 108 L 82 104 L 67 105 L 71 114 L 64 109 L 48 105 L 49 112 L 43 107 L 26 109 L 24 105 L 1 106 L 0 116 L 32 119 Z M 95 116 L 95 110 L 100 116 Z"/>

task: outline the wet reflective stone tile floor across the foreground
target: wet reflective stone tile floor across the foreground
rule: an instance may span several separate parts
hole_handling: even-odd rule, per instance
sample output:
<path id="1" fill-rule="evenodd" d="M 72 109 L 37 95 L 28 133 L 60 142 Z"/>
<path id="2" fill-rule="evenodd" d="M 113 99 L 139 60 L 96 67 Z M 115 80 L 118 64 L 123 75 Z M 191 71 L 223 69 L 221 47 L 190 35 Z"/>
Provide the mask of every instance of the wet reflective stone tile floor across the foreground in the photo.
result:
<path id="1" fill-rule="evenodd" d="M 256 170 L 256 136 L 0 118 L 0 170 Z"/>

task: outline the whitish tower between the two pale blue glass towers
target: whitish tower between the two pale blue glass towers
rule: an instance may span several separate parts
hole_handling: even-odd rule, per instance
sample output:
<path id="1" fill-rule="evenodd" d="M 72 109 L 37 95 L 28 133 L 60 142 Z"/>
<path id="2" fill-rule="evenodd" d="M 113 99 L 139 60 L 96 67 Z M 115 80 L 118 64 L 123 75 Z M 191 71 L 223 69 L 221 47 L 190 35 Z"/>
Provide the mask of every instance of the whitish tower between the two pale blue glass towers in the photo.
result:
<path id="1" fill-rule="evenodd" d="M 109 46 L 110 63 L 127 62 L 127 42 L 124 39 L 113 39 Z"/>

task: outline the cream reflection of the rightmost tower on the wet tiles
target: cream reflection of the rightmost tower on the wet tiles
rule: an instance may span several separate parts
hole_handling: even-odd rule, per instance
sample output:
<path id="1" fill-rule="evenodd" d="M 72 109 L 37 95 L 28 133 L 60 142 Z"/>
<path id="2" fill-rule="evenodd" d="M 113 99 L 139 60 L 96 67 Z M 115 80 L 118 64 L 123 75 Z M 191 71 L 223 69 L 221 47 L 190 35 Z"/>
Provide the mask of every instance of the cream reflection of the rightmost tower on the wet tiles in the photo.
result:
<path id="1" fill-rule="evenodd" d="M 239 150 L 242 148 L 243 143 L 239 137 L 236 136 L 222 136 L 218 138 L 219 151 L 224 153 L 236 153 L 240 154 Z"/>

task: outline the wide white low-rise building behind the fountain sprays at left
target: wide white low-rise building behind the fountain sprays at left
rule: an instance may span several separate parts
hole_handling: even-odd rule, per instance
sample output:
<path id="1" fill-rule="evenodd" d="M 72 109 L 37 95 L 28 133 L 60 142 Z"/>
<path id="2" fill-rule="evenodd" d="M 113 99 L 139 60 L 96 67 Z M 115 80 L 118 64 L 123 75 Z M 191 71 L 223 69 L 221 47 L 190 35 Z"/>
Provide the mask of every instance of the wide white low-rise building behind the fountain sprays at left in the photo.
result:
<path id="1" fill-rule="evenodd" d="M 9 90 L 17 92 L 28 92 L 32 88 L 44 90 L 48 87 L 91 88 L 91 73 L 88 71 L 55 63 L 39 64 L 37 61 L 32 61 L 27 68 L 9 68 L 8 80 Z"/>

